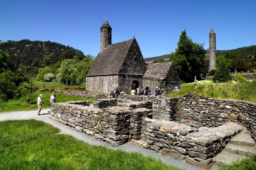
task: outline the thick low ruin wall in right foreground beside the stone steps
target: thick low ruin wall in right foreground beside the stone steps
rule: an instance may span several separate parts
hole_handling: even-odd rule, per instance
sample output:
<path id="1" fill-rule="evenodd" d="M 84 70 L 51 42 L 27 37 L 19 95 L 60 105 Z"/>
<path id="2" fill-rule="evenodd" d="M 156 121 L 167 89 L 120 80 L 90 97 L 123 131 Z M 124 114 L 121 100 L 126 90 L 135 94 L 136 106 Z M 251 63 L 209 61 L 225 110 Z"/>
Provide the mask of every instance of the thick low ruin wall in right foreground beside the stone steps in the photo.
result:
<path id="1" fill-rule="evenodd" d="M 234 122 L 214 128 L 195 128 L 173 121 L 147 118 L 142 125 L 141 139 L 145 143 L 141 146 L 209 169 L 214 164 L 214 156 L 241 130 L 243 127 Z"/>

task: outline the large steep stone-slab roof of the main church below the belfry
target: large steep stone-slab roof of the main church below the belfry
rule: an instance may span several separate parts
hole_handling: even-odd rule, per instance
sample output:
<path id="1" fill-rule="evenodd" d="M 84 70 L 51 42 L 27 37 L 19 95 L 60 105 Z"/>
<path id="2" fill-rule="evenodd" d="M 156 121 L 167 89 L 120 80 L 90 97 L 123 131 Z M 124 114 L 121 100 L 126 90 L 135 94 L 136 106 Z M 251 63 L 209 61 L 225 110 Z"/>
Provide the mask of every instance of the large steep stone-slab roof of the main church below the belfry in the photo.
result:
<path id="1" fill-rule="evenodd" d="M 131 40 L 108 45 L 97 55 L 87 77 L 117 75 L 134 41 L 136 42 L 136 39 L 132 38 Z"/>

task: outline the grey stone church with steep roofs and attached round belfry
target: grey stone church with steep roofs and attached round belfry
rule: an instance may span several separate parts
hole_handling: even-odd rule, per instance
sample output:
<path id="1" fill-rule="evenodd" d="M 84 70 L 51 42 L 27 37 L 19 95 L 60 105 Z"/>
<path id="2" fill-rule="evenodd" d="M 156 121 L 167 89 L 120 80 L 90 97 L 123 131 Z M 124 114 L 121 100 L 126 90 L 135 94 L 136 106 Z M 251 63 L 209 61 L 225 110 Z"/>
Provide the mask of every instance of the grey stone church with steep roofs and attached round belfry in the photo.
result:
<path id="1" fill-rule="evenodd" d="M 112 44 L 112 28 L 105 20 L 100 28 L 100 52 L 86 77 L 86 89 L 92 92 L 109 93 L 117 87 L 126 94 L 132 89 L 156 87 L 165 93 L 181 81 L 172 62 L 146 64 L 138 42 L 130 40 Z"/>

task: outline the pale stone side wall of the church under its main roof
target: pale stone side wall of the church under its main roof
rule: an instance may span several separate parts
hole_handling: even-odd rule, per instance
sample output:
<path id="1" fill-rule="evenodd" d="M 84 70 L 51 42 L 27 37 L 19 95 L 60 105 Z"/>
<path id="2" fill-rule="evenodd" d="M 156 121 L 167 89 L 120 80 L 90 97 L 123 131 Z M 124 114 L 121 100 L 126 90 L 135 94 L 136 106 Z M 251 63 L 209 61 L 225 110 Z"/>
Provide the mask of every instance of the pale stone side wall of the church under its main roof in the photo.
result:
<path id="1" fill-rule="evenodd" d="M 110 91 L 115 91 L 116 87 L 118 87 L 117 75 L 86 77 L 86 89 L 88 91 L 108 94 Z"/>

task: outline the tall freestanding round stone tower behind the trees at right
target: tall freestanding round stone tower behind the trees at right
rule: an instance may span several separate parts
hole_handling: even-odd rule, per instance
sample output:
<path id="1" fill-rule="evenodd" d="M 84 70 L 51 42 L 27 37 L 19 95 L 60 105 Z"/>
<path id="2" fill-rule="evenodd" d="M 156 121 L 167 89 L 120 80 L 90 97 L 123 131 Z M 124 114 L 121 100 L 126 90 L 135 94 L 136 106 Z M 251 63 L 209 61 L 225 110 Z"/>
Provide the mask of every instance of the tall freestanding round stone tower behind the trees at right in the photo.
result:
<path id="1" fill-rule="evenodd" d="M 209 34 L 209 71 L 216 70 L 216 34 L 212 29 Z"/>

